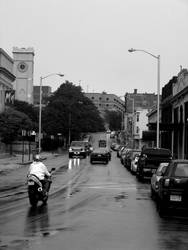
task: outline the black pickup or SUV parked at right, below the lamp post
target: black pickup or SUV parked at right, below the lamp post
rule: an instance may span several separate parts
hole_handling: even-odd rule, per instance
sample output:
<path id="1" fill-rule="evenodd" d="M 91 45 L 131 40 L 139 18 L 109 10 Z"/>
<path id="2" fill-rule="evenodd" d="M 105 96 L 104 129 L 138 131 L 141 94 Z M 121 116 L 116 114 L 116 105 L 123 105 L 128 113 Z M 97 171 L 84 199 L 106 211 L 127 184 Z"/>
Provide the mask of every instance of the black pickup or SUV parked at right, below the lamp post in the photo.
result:
<path id="1" fill-rule="evenodd" d="M 171 160 L 172 154 L 169 149 L 145 147 L 138 159 L 136 176 L 139 180 L 151 178 L 160 163 L 170 162 Z"/>

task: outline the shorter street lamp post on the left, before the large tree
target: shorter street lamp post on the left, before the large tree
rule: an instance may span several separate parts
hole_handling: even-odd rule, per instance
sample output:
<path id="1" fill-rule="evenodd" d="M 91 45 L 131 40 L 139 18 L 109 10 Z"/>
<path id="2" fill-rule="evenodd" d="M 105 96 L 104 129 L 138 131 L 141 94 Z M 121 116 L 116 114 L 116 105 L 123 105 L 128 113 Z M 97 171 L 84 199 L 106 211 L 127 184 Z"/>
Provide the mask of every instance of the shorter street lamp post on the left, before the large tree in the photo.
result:
<path id="1" fill-rule="evenodd" d="M 52 73 L 52 74 L 49 74 L 47 76 L 44 76 L 44 77 L 40 77 L 40 88 L 39 88 L 39 135 L 38 135 L 38 140 L 39 140 L 39 148 L 38 148 L 38 153 L 40 154 L 41 152 L 41 120 L 42 120 L 42 80 L 44 80 L 45 78 L 48 78 L 50 76 L 53 76 L 53 75 L 58 75 L 60 77 L 63 77 L 64 75 L 63 74 L 60 74 L 60 73 Z"/>

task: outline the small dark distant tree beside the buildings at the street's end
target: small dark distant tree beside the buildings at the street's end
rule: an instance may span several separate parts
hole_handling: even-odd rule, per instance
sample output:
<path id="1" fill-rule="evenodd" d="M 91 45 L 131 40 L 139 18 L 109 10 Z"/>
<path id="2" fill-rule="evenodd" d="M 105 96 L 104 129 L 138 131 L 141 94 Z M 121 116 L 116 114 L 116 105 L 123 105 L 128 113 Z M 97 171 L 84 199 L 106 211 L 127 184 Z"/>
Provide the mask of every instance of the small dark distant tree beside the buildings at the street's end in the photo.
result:
<path id="1" fill-rule="evenodd" d="M 122 113 L 120 111 L 106 110 L 105 120 L 108 123 L 110 130 L 120 130 L 122 124 Z"/>

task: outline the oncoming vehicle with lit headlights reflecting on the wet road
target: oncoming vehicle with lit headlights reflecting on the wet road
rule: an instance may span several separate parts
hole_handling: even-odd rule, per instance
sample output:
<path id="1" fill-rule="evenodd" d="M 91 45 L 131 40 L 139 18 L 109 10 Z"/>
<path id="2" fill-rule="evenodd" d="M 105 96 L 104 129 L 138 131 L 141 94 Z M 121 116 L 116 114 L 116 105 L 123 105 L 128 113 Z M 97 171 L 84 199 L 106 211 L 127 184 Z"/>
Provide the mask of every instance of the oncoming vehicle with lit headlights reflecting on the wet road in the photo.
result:
<path id="1" fill-rule="evenodd" d="M 86 158 L 88 154 L 87 147 L 84 141 L 72 141 L 69 147 L 69 158 L 81 156 Z"/>

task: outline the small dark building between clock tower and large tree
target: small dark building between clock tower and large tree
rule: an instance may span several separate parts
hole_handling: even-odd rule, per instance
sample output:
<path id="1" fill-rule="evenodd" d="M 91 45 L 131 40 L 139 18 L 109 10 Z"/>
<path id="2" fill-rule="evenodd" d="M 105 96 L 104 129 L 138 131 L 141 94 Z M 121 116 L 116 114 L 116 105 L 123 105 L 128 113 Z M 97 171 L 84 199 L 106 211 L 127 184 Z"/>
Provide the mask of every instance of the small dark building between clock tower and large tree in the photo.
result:
<path id="1" fill-rule="evenodd" d="M 42 86 L 42 105 L 47 104 L 47 98 L 52 94 L 50 86 Z M 40 86 L 33 86 L 33 104 L 39 106 L 40 104 Z"/>

